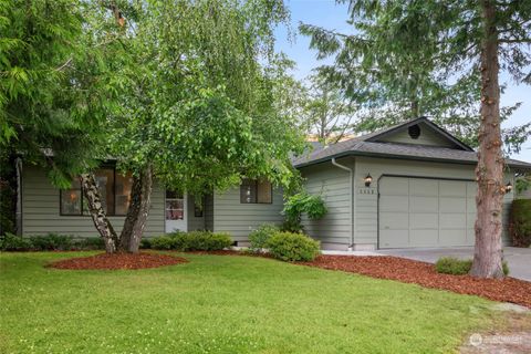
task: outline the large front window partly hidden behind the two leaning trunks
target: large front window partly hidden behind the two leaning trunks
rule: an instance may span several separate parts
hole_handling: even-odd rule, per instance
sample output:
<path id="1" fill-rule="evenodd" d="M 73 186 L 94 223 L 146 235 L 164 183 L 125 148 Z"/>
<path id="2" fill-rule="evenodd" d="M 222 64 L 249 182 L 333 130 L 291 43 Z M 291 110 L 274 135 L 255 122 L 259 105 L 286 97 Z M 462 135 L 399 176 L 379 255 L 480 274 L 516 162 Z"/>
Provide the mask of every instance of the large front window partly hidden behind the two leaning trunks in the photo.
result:
<path id="1" fill-rule="evenodd" d="M 100 168 L 94 174 L 100 190 L 103 209 L 107 216 L 125 216 L 129 208 L 133 176 L 121 175 L 112 167 Z M 60 191 L 61 215 L 90 215 L 88 202 L 83 196 L 83 187 L 79 178 L 72 181 L 70 189 Z"/>

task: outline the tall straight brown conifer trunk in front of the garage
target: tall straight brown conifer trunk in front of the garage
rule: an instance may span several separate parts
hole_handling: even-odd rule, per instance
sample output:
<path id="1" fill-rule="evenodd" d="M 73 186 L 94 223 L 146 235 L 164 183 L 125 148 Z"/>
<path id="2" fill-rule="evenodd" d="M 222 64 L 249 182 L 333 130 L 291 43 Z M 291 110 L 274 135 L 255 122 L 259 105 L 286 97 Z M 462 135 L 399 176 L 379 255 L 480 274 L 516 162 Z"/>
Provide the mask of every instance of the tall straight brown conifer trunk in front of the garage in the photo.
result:
<path id="1" fill-rule="evenodd" d="M 476 177 L 476 247 L 470 273 L 481 278 L 503 278 L 501 212 L 504 195 L 503 157 L 500 133 L 500 87 L 498 83 L 498 31 L 496 6 L 481 1 L 483 38 L 481 43 L 481 125 Z"/>

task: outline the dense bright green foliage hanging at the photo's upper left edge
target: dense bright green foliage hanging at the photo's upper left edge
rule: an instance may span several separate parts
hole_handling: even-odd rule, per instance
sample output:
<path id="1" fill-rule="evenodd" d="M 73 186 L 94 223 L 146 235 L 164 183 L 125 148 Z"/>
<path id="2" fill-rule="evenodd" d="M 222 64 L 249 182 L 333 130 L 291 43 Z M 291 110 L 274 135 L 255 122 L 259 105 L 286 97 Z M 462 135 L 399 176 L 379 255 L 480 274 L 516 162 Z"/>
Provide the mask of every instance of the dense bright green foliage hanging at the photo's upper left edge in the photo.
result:
<path id="1" fill-rule="evenodd" d="M 76 0 L 0 3 L 0 148 L 45 166 L 59 186 L 94 166 L 111 103 L 84 15 Z"/>

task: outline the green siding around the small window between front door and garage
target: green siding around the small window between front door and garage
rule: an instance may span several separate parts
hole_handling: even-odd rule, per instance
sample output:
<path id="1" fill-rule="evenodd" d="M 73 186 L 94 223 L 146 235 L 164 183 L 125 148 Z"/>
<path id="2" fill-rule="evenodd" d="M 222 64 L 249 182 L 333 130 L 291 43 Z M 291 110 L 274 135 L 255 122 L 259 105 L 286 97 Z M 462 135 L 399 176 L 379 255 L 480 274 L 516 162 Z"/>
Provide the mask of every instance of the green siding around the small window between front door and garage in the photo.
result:
<path id="1" fill-rule="evenodd" d="M 281 225 L 282 189 L 273 188 L 272 204 L 241 204 L 240 188 L 214 195 L 214 231 L 229 232 L 235 241 L 247 241 L 262 223 Z"/>

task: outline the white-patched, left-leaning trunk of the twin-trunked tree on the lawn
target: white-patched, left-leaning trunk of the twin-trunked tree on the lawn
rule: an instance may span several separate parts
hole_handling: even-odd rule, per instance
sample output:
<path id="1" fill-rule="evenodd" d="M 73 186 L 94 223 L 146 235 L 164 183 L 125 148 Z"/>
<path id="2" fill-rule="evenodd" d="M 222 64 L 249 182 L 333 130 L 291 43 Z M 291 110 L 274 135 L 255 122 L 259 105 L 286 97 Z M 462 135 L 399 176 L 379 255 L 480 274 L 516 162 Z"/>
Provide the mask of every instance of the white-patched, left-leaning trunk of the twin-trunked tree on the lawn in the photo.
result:
<path id="1" fill-rule="evenodd" d="M 118 237 L 103 209 L 100 190 L 97 189 L 94 176 L 92 174 L 82 174 L 81 184 L 83 185 L 83 194 L 88 201 L 92 221 L 94 221 L 97 232 L 100 232 L 100 236 L 105 242 L 105 250 L 107 253 L 114 253 L 118 244 Z"/>

